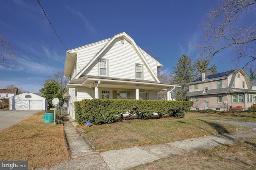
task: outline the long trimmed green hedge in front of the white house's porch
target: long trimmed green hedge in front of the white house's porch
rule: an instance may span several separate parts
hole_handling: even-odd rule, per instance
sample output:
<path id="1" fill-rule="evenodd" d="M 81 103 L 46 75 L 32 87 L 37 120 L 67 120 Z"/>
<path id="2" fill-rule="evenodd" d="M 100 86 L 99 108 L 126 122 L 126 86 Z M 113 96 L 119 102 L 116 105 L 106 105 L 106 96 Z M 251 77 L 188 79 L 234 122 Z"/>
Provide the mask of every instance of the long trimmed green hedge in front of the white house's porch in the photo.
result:
<path id="1" fill-rule="evenodd" d="M 84 99 L 74 102 L 76 121 L 84 124 L 90 121 L 93 124 L 113 123 L 122 121 L 134 114 L 139 119 L 148 119 L 157 113 L 159 118 L 170 114 L 173 117 L 184 117 L 185 112 L 191 109 L 191 101 L 166 100 L 124 100 L 124 99 Z M 128 113 L 124 117 L 124 114 Z"/>

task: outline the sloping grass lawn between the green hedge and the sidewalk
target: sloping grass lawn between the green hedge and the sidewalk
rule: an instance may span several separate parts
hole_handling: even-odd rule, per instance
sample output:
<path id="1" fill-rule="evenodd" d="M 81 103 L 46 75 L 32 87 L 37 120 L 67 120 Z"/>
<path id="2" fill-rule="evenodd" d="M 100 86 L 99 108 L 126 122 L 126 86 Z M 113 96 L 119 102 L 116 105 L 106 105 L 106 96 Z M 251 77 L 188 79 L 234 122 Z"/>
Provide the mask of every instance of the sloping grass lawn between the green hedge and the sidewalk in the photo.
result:
<path id="1" fill-rule="evenodd" d="M 157 145 L 183 139 L 205 137 L 236 131 L 239 126 L 186 118 L 126 120 L 123 122 L 80 126 L 84 135 L 98 150 L 114 150 L 132 146 Z M 243 129 L 248 129 L 244 127 Z"/>

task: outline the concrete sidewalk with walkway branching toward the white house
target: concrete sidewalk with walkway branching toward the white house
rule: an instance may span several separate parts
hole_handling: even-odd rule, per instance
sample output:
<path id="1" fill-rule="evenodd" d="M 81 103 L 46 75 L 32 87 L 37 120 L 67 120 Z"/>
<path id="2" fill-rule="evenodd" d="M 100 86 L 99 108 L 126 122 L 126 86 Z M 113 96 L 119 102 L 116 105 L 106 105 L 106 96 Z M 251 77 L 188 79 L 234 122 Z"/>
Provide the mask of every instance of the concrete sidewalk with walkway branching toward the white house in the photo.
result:
<path id="1" fill-rule="evenodd" d="M 163 145 L 98 152 L 86 143 L 71 122 L 65 122 L 64 130 L 73 159 L 52 166 L 50 170 L 126 170 L 160 158 L 170 157 L 172 154 L 196 152 L 222 144 L 234 143 L 235 141 L 243 142 L 246 138 L 256 137 L 256 128 L 254 128 L 248 131 L 186 139 Z M 46 168 L 37 168 L 36 170 L 46 170 Z"/>

